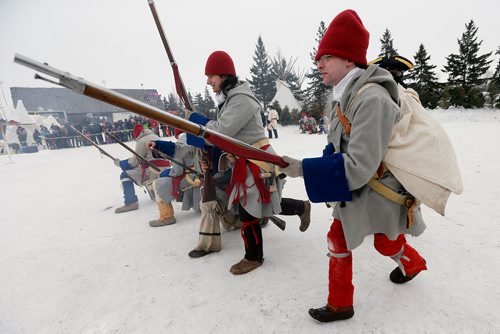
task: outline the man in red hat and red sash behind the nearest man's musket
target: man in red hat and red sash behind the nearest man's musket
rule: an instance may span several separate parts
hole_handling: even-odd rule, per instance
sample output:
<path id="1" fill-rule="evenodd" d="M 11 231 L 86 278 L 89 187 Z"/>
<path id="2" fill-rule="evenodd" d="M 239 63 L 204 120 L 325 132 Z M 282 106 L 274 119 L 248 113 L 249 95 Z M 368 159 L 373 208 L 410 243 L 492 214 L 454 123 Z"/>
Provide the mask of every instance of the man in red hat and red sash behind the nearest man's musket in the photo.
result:
<path id="1" fill-rule="evenodd" d="M 186 118 L 256 148 L 274 153 L 262 127 L 261 104 L 252 93 L 250 85 L 238 81 L 231 57 L 224 51 L 213 52 L 208 57 L 205 75 L 207 84 L 212 86 L 219 104 L 217 120 L 211 121 L 201 114 L 189 111 L 186 112 Z M 228 209 L 237 213 L 241 220 L 245 256 L 231 267 L 230 272 L 240 275 L 262 265 L 264 251 L 259 223 L 262 218 L 282 211 L 283 181 L 277 177 L 278 173 L 273 165 L 260 161 L 235 157 L 231 169 Z M 306 204 L 304 201 L 297 202 L 300 202 L 300 214 L 303 214 L 306 211 Z"/>

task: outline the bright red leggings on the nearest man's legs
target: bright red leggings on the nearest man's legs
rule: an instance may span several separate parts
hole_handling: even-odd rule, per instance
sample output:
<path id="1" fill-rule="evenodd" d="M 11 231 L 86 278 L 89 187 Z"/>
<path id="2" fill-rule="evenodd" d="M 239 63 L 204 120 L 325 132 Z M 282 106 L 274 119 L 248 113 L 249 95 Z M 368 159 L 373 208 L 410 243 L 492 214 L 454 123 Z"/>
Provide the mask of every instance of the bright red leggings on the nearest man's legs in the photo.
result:
<path id="1" fill-rule="evenodd" d="M 352 254 L 347 249 L 340 220 L 333 220 L 327 238 L 328 250 L 330 251 L 328 304 L 337 307 L 351 306 L 354 297 Z M 406 275 L 427 269 L 424 259 L 406 243 L 403 234 L 400 234 L 396 240 L 389 240 L 384 234 L 377 233 L 374 238 L 374 246 L 382 255 L 399 256 L 398 259 L 403 264 Z"/>

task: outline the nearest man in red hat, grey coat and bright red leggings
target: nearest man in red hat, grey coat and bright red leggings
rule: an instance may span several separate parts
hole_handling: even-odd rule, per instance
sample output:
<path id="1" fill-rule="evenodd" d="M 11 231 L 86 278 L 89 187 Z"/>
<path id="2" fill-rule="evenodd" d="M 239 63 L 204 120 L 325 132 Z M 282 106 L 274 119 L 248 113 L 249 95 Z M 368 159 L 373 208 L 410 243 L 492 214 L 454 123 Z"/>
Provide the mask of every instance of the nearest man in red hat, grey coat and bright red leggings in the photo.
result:
<path id="1" fill-rule="evenodd" d="M 425 229 L 420 206 L 415 201 L 395 203 L 370 186 L 377 179 L 411 200 L 381 164 L 399 120 L 399 93 L 389 72 L 377 65 L 367 66 L 368 40 L 369 33 L 353 10 L 333 19 L 316 54 L 323 83 L 333 86 L 328 144 L 322 157 L 283 157 L 289 166 L 282 171 L 304 178 L 311 201 L 330 202 L 334 207 L 328 233 L 328 303 L 309 310 L 321 322 L 354 315 L 351 251 L 366 236 L 374 235 L 375 249 L 397 263 L 389 275 L 392 282 L 406 283 L 427 269 L 425 260 L 405 239 L 405 234 L 418 236 Z"/>

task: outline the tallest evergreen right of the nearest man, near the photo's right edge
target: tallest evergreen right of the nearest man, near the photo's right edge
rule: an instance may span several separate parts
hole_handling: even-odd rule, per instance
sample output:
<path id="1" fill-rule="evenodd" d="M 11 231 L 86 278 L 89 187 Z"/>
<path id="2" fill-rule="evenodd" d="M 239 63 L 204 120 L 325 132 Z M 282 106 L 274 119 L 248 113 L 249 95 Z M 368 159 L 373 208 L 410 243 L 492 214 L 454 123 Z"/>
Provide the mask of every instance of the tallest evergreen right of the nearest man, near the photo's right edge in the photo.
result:
<path id="1" fill-rule="evenodd" d="M 448 73 L 451 103 L 465 108 L 484 106 L 484 96 L 480 90 L 483 78 L 490 66 L 491 52 L 479 55 L 479 47 L 483 41 L 478 42 L 474 21 L 465 25 L 466 31 L 458 40 L 459 54 L 446 57 L 447 65 L 443 72 Z"/>

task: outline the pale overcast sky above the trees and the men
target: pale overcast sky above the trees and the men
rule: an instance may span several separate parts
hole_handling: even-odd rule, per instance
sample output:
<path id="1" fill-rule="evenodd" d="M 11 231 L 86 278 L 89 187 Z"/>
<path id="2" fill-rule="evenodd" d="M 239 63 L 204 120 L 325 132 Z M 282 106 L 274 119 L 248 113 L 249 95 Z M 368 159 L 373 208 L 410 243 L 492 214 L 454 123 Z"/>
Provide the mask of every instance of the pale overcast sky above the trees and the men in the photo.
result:
<path id="1" fill-rule="evenodd" d="M 167 1 L 156 0 L 164 30 L 186 87 L 205 89 L 204 66 L 214 50 L 233 58 L 238 75 L 250 77 L 259 34 L 271 56 L 281 50 L 312 66 L 309 53 L 321 21 L 344 9 L 358 12 L 370 32 L 368 60 L 380 52 L 386 28 L 394 47 L 413 60 L 420 43 L 442 69 L 458 53 L 457 39 L 471 19 L 483 40 L 481 53 L 500 46 L 500 1 Z M 108 88 L 174 91 L 172 71 L 147 0 L 0 0 L 0 81 L 8 87 L 54 87 L 13 63 L 15 53 Z M 498 62 L 494 59 L 493 66 Z M 446 79 L 441 75 L 443 80 Z M 9 101 L 9 103 L 11 103 Z"/>

